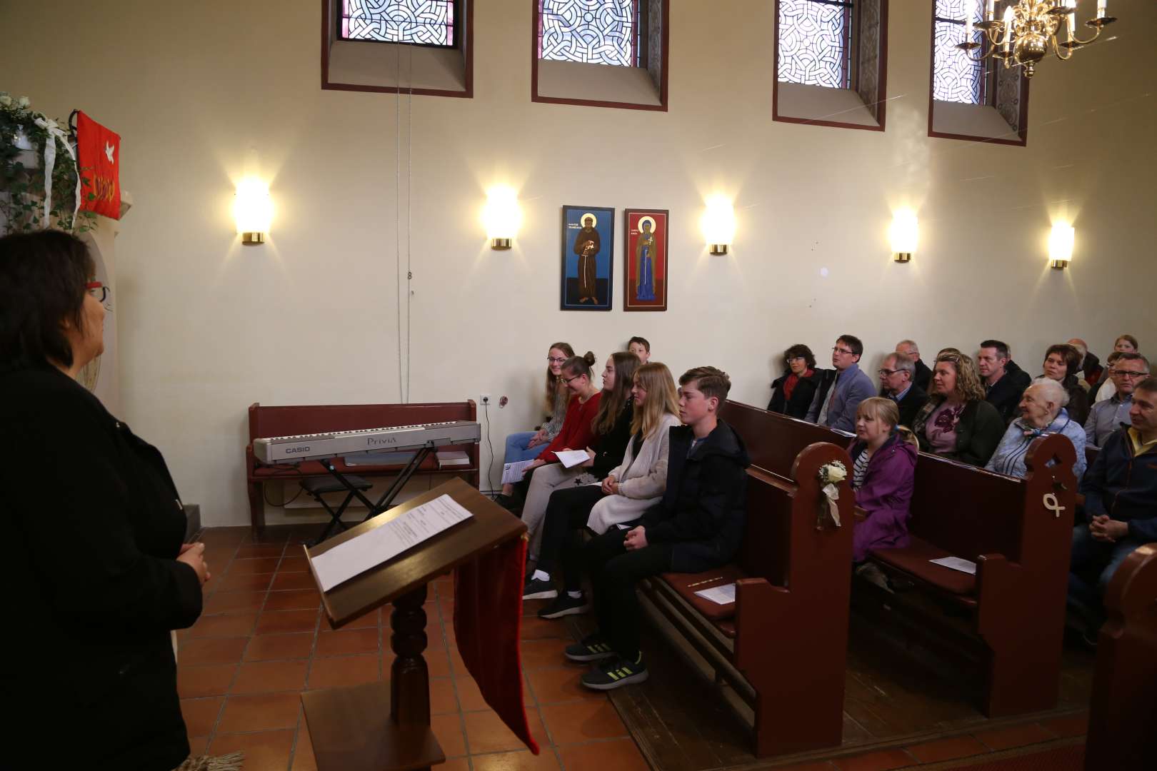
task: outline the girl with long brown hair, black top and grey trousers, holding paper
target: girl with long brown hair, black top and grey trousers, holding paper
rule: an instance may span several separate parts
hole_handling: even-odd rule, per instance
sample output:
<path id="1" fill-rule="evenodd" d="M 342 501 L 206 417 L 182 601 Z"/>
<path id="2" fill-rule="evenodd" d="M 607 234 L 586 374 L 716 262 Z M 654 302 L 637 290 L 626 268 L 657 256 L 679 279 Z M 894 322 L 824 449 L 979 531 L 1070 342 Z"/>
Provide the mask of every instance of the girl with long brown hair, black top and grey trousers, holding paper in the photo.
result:
<path id="1" fill-rule="evenodd" d="M 622 461 L 627 442 L 631 439 L 631 425 L 634 420 L 634 401 L 631 398 L 631 384 L 639 366 L 639 357 L 629 351 L 617 351 L 606 359 L 603 370 L 603 392 L 599 394 L 598 413 L 591 427 L 598 440 L 598 451 L 585 447 L 590 458 L 566 468 L 562 464 L 547 464 L 530 477 L 526 501 L 522 505 L 522 521 L 526 522 L 530 538 L 530 559 L 537 559 L 538 546 L 543 540 L 541 521 L 551 494 L 559 488 L 573 488 L 581 484 L 600 482 L 612 468 Z M 582 450 L 583 447 L 563 447 L 563 450 Z"/>

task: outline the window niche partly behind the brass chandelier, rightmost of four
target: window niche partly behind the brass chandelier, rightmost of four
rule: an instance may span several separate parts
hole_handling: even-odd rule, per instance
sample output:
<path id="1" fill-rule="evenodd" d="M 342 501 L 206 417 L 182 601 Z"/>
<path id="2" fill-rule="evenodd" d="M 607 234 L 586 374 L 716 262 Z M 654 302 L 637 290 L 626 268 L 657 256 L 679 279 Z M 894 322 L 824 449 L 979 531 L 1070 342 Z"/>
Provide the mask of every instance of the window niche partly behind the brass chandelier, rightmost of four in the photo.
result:
<path id="1" fill-rule="evenodd" d="M 1005 5 L 996 3 L 997 18 Z M 975 62 L 956 47 L 964 42 L 970 9 L 974 24 L 983 20 L 983 3 L 935 0 L 928 135 L 1024 147 L 1029 141 L 1029 79 L 1019 67 L 1009 69 L 993 59 Z M 972 39 L 981 44 L 975 55 L 992 50 L 980 29 Z"/>

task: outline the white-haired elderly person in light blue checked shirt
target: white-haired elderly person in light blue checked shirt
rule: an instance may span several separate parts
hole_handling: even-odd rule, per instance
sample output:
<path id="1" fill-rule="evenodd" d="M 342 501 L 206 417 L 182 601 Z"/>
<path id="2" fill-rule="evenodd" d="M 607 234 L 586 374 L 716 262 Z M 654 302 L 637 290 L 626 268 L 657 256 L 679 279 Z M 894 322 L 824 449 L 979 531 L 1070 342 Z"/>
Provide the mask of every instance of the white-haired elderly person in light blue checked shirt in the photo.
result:
<path id="1" fill-rule="evenodd" d="M 1069 394 L 1052 378 L 1037 378 L 1020 396 L 1020 417 L 1009 424 L 1004 438 L 985 466 L 990 472 L 1024 477 L 1029 469 L 1024 465 L 1029 445 L 1033 439 L 1048 433 L 1063 433 L 1077 451 L 1077 462 L 1073 473 L 1079 480 L 1085 469 L 1085 432 L 1081 423 L 1069 417 L 1064 405 Z"/>

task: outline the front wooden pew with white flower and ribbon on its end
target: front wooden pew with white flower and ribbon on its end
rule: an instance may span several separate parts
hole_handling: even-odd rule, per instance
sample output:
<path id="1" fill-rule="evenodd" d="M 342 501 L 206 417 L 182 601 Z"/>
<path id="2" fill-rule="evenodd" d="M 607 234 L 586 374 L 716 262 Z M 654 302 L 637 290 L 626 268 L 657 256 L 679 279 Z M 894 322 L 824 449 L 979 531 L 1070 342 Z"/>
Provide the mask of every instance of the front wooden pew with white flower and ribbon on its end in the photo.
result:
<path id="1" fill-rule="evenodd" d="M 786 479 L 749 468 L 747 517 L 735 562 L 642 584 L 717 677 L 753 709 L 760 757 L 834 747 L 842 736 L 853 517 L 847 482 L 839 485 L 843 526 L 830 518 L 818 525 L 818 473 L 834 460 L 848 465 L 841 447 L 817 443 L 798 453 Z M 707 584 L 731 581 L 732 605 L 694 595 Z"/>

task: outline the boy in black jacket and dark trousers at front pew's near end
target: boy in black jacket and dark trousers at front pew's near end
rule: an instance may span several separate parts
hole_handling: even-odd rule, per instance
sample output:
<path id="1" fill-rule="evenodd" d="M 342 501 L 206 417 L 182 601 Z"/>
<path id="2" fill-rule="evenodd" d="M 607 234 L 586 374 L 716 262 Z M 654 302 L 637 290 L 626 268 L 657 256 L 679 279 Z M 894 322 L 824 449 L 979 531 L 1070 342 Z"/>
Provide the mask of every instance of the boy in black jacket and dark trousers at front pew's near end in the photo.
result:
<path id="1" fill-rule="evenodd" d="M 639 651 L 635 583 L 663 572 L 723 565 L 743 538 L 750 465 L 739 436 L 718 420 L 731 381 L 714 366 L 679 378 L 679 418 L 671 429 L 666 491 L 629 531 L 611 528 L 583 549 L 599 631 L 566 650 L 572 661 L 598 661 L 582 683 L 596 690 L 647 680 Z"/>

